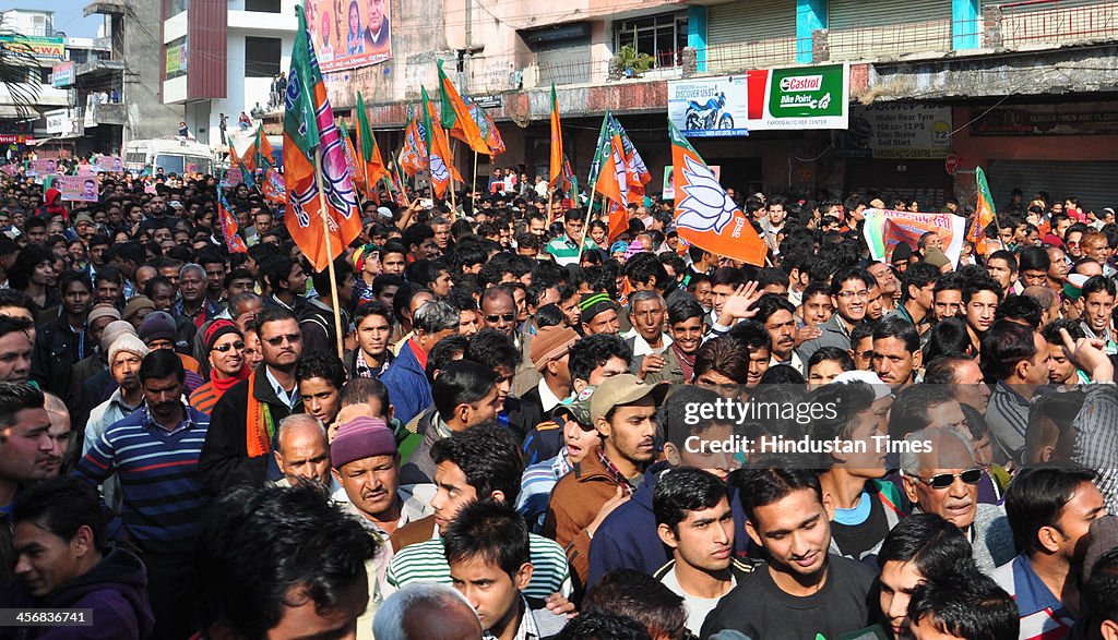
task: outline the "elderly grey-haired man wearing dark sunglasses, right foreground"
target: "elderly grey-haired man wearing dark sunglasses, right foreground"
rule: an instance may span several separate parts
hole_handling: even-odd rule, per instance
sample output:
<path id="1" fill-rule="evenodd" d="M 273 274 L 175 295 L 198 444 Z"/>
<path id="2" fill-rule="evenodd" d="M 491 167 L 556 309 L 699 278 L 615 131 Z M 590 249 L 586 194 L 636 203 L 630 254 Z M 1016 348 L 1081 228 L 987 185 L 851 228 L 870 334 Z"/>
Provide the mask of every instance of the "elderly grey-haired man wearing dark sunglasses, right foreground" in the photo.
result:
<path id="1" fill-rule="evenodd" d="M 1016 555 L 1005 510 L 978 503 L 982 469 L 970 443 L 953 428 L 929 427 L 904 437 L 901 485 L 913 513 L 936 514 L 959 527 L 974 550 L 975 564 L 989 573 Z M 922 443 L 926 452 L 916 452 Z"/>

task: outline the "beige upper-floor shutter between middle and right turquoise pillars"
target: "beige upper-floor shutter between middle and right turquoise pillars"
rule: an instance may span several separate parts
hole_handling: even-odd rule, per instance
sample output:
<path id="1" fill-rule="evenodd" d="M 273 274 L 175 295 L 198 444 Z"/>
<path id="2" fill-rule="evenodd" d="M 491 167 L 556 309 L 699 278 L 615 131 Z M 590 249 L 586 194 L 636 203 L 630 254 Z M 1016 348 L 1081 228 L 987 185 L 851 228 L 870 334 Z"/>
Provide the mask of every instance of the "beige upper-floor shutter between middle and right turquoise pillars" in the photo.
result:
<path id="1" fill-rule="evenodd" d="M 832 60 L 951 49 L 951 0 L 831 0 Z"/>

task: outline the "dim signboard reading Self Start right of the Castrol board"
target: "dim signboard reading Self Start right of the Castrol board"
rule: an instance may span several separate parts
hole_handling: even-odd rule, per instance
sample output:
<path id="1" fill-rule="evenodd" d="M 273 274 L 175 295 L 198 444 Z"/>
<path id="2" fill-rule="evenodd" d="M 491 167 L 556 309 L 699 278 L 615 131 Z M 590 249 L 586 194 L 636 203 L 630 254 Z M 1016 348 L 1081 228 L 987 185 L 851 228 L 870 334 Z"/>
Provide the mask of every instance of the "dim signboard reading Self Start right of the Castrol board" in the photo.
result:
<path id="1" fill-rule="evenodd" d="M 836 143 L 840 157 L 939 160 L 951 151 L 951 107 L 881 103 L 855 105 Z"/>

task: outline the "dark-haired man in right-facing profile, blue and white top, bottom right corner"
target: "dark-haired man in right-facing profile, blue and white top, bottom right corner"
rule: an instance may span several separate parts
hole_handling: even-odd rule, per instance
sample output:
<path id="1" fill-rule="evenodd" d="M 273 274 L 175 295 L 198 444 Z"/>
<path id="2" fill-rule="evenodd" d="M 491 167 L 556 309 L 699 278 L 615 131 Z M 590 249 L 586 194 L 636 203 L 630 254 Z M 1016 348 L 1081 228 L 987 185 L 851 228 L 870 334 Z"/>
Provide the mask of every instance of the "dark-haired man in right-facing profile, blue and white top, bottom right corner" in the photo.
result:
<path id="1" fill-rule="evenodd" d="M 1017 601 L 1022 629 L 1061 640 L 1080 618 L 1080 573 L 1091 523 L 1107 514 L 1095 472 L 1039 467 L 1014 476 L 1005 513 L 1021 554 L 993 577 Z"/>

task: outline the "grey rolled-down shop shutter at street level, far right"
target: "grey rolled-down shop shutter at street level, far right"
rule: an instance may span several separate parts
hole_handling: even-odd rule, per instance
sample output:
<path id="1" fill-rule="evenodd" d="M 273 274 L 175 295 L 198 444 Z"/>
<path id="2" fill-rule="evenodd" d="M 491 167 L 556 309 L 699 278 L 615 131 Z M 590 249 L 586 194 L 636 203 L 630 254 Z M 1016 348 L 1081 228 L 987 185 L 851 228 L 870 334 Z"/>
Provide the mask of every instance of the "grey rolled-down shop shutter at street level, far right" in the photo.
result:
<path id="1" fill-rule="evenodd" d="M 1008 207 L 1014 188 L 1026 203 L 1038 191 L 1048 191 L 1058 201 L 1079 198 L 1084 211 L 1118 207 L 1118 162 L 995 160 L 986 174 L 999 211 Z"/>

